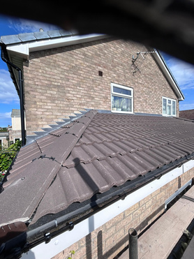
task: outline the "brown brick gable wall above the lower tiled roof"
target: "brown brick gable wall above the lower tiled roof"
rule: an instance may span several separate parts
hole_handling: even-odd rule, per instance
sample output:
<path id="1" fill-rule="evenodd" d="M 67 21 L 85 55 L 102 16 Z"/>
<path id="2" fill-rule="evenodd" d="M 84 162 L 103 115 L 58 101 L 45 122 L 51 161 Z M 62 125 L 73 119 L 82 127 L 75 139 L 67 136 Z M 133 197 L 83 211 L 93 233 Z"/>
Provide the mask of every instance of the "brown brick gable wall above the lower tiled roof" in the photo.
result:
<path id="1" fill-rule="evenodd" d="M 162 96 L 176 96 L 151 54 L 137 59 L 141 73 L 133 73 L 132 56 L 142 50 L 142 45 L 109 38 L 32 52 L 24 66 L 27 131 L 84 108 L 110 110 L 111 82 L 133 87 L 134 112 L 161 114 Z"/>

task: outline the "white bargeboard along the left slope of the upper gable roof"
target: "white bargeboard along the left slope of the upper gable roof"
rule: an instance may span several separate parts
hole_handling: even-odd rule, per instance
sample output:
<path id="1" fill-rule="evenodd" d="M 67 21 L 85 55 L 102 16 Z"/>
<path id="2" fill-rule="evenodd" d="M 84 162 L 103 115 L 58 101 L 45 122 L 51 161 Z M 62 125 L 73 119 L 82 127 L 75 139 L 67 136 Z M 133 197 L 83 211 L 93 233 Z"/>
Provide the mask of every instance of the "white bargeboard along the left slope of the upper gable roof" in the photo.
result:
<path id="1" fill-rule="evenodd" d="M 67 45 L 75 45 L 79 43 L 86 43 L 93 40 L 100 40 L 107 38 L 104 34 L 89 34 L 82 36 L 68 36 L 61 38 L 48 38 L 45 40 L 29 41 L 27 43 L 18 43 L 14 45 L 8 45 L 6 49 L 10 52 L 17 52 L 25 59 L 29 59 L 29 53 L 38 50 L 48 50 L 54 47 L 64 47 Z"/>

